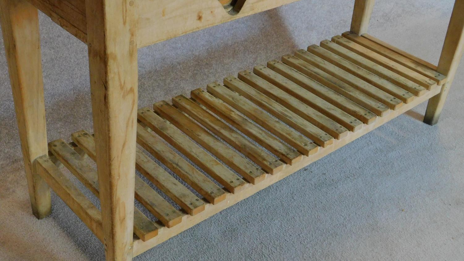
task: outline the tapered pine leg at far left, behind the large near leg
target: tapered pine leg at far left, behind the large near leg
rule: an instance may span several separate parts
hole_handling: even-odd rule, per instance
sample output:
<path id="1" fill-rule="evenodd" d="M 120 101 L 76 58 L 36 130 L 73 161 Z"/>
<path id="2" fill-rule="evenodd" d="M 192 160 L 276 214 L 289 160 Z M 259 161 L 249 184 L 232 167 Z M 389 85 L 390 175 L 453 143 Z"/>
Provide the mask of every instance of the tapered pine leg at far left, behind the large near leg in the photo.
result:
<path id="1" fill-rule="evenodd" d="M 50 188 L 32 164 L 48 154 L 38 12 L 25 0 L 0 0 L 0 11 L 32 214 L 42 219 L 52 205 Z"/>

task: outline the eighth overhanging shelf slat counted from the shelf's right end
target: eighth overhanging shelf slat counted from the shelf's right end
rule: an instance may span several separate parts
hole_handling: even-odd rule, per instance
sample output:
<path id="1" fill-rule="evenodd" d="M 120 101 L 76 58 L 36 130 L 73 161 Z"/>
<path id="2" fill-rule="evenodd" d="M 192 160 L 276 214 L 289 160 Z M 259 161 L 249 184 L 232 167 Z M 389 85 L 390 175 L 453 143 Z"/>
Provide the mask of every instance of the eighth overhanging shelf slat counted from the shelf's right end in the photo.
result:
<path id="1" fill-rule="evenodd" d="M 335 107 L 329 102 L 326 102 L 319 96 L 309 92 L 300 85 L 290 81 L 289 79 L 267 68 L 264 65 L 258 65 L 254 67 L 253 72 L 267 82 L 272 83 L 274 86 L 277 86 L 286 93 L 290 94 L 292 97 L 295 97 L 299 101 L 304 102 L 305 104 L 311 106 L 334 121 L 346 121 L 349 119 L 348 117 L 352 117 L 343 110 Z M 375 119 L 376 116 L 368 121 L 368 124 L 374 122 Z"/>

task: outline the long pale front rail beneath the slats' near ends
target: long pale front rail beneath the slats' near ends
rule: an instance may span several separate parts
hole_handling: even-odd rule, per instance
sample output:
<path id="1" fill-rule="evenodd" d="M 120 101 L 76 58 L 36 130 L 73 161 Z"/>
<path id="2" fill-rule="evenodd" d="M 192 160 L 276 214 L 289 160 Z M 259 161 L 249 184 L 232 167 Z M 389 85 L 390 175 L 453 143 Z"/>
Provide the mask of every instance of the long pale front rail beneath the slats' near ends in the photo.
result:
<path id="1" fill-rule="evenodd" d="M 435 86 L 432 88 L 431 91 L 427 91 L 425 95 L 422 97 L 419 97 L 415 99 L 414 101 L 405 104 L 405 106 L 399 108 L 396 111 L 392 111 L 389 115 L 385 117 L 379 117 L 377 121 L 375 121 L 373 124 L 367 125 L 364 128 L 362 128 L 361 131 L 355 132 L 355 133 L 349 133 L 348 137 L 343 139 L 343 140 L 335 140 L 334 146 L 329 146 L 327 148 L 321 148 L 318 153 L 313 154 L 309 157 L 305 157 L 303 160 L 297 162 L 293 166 L 288 166 L 284 171 L 277 173 L 276 175 L 268 175 L 264 182 L 261 182 L 257 185 L 251 185 L 247 184 L 245 185 L 245 189 L 241 191 L 240 193 L 237 194 L 227 194 L 226 200 L 223 201 L 220 204 L 217 205 L 207 205 L 206 210 L 200 213 L 199 215 L 196 216 L 184 216 L 182 219 L 182 223 L 180 223 L 178 226 L 175 226 L 172 229 L 166 229 L 166 228 L 161 228 L 158 236 L 153 238 L 152 240 L 148 242 L 142 242 L 142 241 L 135 241 L 134 242 L 134 255 L 140 255 L 143 252 L 147 251 L 150 248 L 153 248 L 154 246 L 165 242 L 169 238 L 178 235 L 182 231 L 189 229 L 193 227 L 194 225 L 200 223 L 201 221 L 207 219 L 210 216 L 213 216 L 214 214 L 218 213 L 221 210 L 224 210 L 234 204 L 237 204 L 239 201 L 250 197 L 251 195 L 255 194 L 256 192 L 263 190 L 264 188 L 276 183 L 277 181 L 289 176 L 290 174 L 308 166 L 310 163 L 321 159 L 322 157 L 328 155 L 329 153 L 334 152 L 335 150 L 341 148 L 342 146 L 347 145 L 349 142 L 356 140 L 357 138 L 361 137 L 364 134 L 367 134 L 368 132 L 374 130 L 377 127 L 380 127 L 381 125 L 385 124 L 386 122 L 392 120 L 393 118 L 396 118 L 397 116 L 403 114 L 404 112 L 414 108 L 416 105 L 426 101 L 430 97 L 437 95 L 440 91 L 439 86 Z"/>

